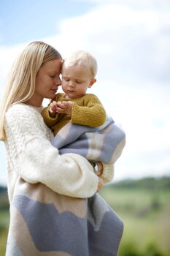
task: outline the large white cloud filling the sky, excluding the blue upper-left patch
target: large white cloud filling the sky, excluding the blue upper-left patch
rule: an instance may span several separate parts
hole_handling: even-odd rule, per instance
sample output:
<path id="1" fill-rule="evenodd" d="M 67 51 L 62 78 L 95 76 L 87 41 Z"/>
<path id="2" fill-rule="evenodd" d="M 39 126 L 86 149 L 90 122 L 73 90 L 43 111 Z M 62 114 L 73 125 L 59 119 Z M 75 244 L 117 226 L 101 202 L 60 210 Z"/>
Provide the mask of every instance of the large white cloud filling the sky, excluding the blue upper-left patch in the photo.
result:
<path id="1" fill-rule="evenodd" d="M 85 15 L 61 20 L 60 34 L 43 40 L 63 56 L 75 49 L 96 56 L 98 81 L 90 92 L 127 135 L 115 177 L 169 173 L 169 1 L 96 2 Z M 0 48 L 1 87 L 19 48 Z"/>

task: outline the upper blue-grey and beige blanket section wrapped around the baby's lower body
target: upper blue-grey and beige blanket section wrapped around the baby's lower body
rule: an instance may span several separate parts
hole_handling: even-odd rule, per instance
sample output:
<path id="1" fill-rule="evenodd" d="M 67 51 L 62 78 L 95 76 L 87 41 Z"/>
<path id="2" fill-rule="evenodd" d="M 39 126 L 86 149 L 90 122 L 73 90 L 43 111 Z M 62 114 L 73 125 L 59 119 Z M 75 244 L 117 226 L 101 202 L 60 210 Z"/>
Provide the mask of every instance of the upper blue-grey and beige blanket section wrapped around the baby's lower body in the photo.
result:
<path id="1" fill-rule="evenodd" d="M 101 161 L 113 164 L 125 146 L 125 132 L 112 117 L 101 127 L 88 127 L 69 122 L 51 140 L 60 154 L 80 154 L 91 162 Z"/>

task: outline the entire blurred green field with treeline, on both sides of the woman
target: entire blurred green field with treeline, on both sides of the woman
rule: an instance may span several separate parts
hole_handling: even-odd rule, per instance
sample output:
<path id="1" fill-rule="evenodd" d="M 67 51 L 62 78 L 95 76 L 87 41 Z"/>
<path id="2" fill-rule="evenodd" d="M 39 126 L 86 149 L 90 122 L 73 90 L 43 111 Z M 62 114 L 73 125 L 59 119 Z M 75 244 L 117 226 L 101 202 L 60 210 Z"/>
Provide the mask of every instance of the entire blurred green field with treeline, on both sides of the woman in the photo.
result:
<path id="1" fill-rule="evenodd" d="M 101 195 L 125 225 L 119 256 L 170 256 L 170 178 L 121 181 L 105 186 Z M 0 255 L 4 256 L 9 211 L 7 198 L 0 196 Z"/>

